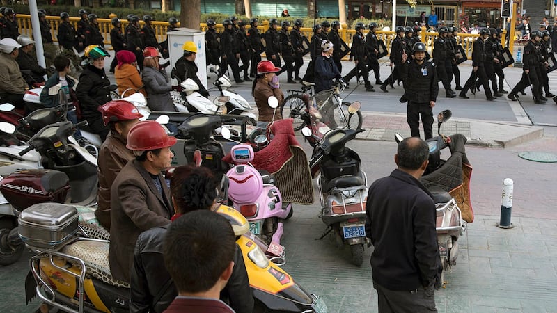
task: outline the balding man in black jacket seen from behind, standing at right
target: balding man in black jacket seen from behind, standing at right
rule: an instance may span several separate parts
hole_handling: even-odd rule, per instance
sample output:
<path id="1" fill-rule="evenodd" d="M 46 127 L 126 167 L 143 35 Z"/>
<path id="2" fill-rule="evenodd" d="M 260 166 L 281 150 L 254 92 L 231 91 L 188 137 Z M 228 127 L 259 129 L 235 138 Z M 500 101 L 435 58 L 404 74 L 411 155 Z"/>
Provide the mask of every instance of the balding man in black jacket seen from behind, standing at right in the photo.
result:
<path id="1" fill-rule="evenodd" d="M 366 235 L 375 248 L 371 267 L 379 312 L 437 312 L 434 291 L 442 268 L 435 204 L 418 180 L 428 157 L 425 141 L 406 138 L 395 154 L 398 168 L 369 189 Z"/>

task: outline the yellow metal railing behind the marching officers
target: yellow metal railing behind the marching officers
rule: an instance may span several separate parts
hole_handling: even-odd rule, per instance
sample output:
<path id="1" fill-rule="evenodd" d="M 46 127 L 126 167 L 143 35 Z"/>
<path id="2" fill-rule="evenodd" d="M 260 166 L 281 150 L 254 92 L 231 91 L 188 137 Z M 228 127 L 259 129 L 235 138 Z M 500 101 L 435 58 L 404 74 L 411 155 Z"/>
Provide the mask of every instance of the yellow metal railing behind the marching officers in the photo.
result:
<path id="1" fill-rule="evenodd" d="M 57 33 L 58 33 L 58 26 L 61 23 L 60 17 L 56 16 L 47 16 L 47 22 L 50 24 L 50 29 L 52 33 L 52 39 L 54 41 L 58 41 Z M 128 22 L 126 19 L 120 19 L 122 22 L 122 29 L 124 30 L 127 26 Z M 74 25 L 77 29 L 77 22 L 79 22 L 79 17 L 70 17 L 70 23 Z M 111 19 L 98 19 L 99 22 L 99 29 L 102 33 L 102 37 L 104 38 L 104 44 L 110 45 L 110 31 L 112 29 Z M 139 22 L 141 26 L 143 26 L 143 21 Z M 24 35 L 31 36 L 33 30 L 31 28 L 31 16 L 30 15 L 17 15 L 17 24 L 19 25 L 19 33 Z M 151 22 L 151 25 L 155 28 L 155 34 L 157 35 L 157 40 L 162 42 L 166 40 L 166 29 L 168 28 L 168 22 L 158 22 L 154 21 Z M 250 26 L 247 26 L 249 28 Z M 207 24 L 201 23 L 199 24 L 199 28 L 202 31 L 207 31 Z M 267 29 L 269 29 L 269 21 L 262 21 L 261 25 L 258 26 L 258 29 L 261 33 L 265 33 Z M 279 28 L 280 29 L 280 28 Z M 222 24 L 217 24 L 217 31 L 222 32 L 224 28 Z M 352 42 L 352 36 L 356 33 L 354 29 L 347 29 L 346 24 L 338 30 L 340 34 L 340 38 L 343 38 L 348 45 Z M 301 28 L 302 35 L 305 35 L 309 40 L 311 40 L 311 36 L 313 35 L 313 30 L 309 27 L 302 27 Z M 365 31 L 364 33 L 368 33 Z M 422 27 L 420 32 L 420 38 L 429 51 L 433 51 L 433 43 L 435 38 L 437 38 L 437 33 L 430 33 L 425 31 L 425 27 Z M 462 45 L 464 51 L 466 51 L 466 56 L 470 59 L 472 56 L 472 47 L 473 42 L 478 38 L 478 34 L 471 34 L 471 33 L 459 33 L 457 35 L 457 42 Z M 501 42 L 505 42 L 506 31 L 503 31 L 503 39 Z M 391 51 L 391 42 L 395 38 L 395 33 L 393 31 L 377 31 L 377 37 L 385 43 L 387 51 Z M 512 52 L 512 51 L 511 51 Z"/>

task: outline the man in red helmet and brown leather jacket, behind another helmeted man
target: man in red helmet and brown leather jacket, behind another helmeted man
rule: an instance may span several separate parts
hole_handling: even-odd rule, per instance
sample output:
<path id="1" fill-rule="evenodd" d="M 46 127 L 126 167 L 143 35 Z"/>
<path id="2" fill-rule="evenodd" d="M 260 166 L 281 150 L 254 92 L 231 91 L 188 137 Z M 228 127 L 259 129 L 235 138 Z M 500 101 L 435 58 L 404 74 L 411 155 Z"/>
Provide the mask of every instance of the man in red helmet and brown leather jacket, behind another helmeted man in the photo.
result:
<path id="1" fill-rule="evenodd" d="M 132 102 L 125 100 L 107 102 L 100 106 L 99 111 L 102 113 L 102 122 L 109 127 L 110 132 L 99 150 L 98 207 L 95 216 L 102 227 L 110 230 L 110 189 L 120 170 L 134 159 L 134 153 L 126 147 L 127 134 L 143 115 Z"/>

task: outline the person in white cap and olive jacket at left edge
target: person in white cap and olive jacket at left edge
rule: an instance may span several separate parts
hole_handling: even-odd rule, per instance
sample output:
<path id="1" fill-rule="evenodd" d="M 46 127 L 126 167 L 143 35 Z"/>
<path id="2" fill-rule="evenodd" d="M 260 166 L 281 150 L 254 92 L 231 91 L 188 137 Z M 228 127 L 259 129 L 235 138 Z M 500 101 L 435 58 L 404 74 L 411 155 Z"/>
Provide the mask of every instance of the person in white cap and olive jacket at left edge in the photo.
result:
<path id="1" fill-rule="evenodd" d="M 17 109 L 25 109 L 23 95 L 29 86 L 15 61 L 19 55 L 19 47 L 21 45 L 12 38 L 0 40 L 0 101 L 9 102 Z"/>

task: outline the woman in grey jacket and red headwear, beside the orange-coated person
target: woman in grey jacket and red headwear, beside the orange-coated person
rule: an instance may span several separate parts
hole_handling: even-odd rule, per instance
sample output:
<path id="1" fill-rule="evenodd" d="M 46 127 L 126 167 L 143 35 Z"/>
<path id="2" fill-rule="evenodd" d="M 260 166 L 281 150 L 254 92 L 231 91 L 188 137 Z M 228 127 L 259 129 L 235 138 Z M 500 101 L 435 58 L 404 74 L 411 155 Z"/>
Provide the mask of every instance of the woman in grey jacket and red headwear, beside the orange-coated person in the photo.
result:
<path id="1" fill-rule="evenodd" d="M 159 50 L 146 47 L 143 50 L 143 73 L 141 78 L 147 92 L 147 105 L 151 111 L 175 112 L 176 108 L 170 95 L 172 86 L 165 70 L 159 70 Z"/>

